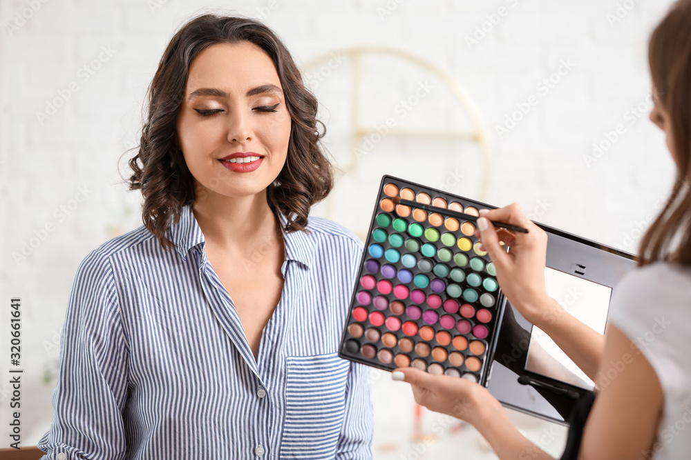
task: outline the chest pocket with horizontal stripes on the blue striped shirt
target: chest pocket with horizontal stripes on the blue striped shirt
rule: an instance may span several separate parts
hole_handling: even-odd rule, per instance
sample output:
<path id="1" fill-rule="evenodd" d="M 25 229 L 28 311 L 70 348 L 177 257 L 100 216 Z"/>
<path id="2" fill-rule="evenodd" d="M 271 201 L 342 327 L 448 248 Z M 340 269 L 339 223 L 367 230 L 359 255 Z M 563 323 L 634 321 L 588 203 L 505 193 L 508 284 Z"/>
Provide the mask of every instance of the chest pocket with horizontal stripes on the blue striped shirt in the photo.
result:
<path id="1" fill-rule="evenodd" d="M 350 362 L 338 354 L 287 357 L 281 459 L 334 457 Z"/>

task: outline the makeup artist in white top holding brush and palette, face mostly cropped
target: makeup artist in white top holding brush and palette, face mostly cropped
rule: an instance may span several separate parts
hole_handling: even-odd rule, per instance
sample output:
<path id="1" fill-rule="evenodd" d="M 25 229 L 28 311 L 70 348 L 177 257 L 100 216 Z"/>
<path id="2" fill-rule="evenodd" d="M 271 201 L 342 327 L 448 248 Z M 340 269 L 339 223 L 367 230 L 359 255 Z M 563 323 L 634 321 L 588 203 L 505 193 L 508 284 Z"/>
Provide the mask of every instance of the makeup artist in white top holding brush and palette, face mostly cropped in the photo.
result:
<path id="1" fill-rule="evenodd" d="M 591 407 L 576 408 L 583 421 L 571 425 L 562 459 L 677 460 L 691 452 L 691 0 L 678 1 L 654 30 L 649 61 L 650 119 L 667 135 L 676 182 L 641 241 L 638 270 L 613 294 L 604 337 L 547 295 L 547 234 L 518 206 L 486 211 L 477 221 L 509 301 L 596 382 Z M 530 232 L 497 230 L 490 221 Z M 551 458 L 477 383 L 415 368 L 399 368 L 392 378 L 411 383 L 415 400 L 430 410 L 473 424 L 501 459 Z"/>

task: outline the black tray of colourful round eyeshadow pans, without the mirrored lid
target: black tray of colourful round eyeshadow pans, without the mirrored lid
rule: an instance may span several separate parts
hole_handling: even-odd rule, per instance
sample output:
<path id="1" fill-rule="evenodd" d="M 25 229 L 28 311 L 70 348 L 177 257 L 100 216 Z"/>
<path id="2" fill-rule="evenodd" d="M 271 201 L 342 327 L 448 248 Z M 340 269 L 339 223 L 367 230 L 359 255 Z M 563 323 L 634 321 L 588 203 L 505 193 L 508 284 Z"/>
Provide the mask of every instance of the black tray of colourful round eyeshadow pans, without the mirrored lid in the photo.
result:
<path id="1" fill-rule="evenodd" d="M 379 190 L 339 354 L 482 383 L 501 293 L 475 223 L 394 199 L 476 217 L 491 207 L 389 176 Z"/>

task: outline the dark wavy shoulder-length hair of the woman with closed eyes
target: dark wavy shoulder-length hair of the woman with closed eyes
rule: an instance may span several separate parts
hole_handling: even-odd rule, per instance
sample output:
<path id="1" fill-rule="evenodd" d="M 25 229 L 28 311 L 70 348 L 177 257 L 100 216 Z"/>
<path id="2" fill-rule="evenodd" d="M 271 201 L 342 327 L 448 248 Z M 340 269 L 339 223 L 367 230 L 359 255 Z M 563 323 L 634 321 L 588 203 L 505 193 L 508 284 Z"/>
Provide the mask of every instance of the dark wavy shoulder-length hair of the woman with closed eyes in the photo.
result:
<path id="1" fill-rule="evenodd" d="M 333 187 L 331 164 L 319 143 L 325 127 L 316 119 L 316 98 L 281 40 L 253 19 L 202 14 L 184 24 L 168 43 L 149 86 L 139 152 L 129 160 L 134 172 L 129 190 L 142 190 L 142 221 L 165 249 L 175 246 L 164 235 L 171 218 L 177 223 L 182 206 L 197 198 L 176 131 L 190 63 L 211 45 L 239 41 L 254 43 L 274 61 L 292 120 L 285 166 L 267 188 L 269 206 L 287 217 L 284 230 L 306 232 L 310 208 Z"/>

